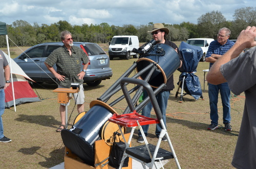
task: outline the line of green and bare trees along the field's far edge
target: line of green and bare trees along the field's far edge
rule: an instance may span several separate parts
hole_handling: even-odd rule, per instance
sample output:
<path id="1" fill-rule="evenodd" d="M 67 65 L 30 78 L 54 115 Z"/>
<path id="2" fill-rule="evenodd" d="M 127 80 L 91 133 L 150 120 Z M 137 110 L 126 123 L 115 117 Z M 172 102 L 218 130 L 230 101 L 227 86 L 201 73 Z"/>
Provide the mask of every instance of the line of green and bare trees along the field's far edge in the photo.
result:
<path id="1" fill-rule="evenodd" d="M 189 38 L 217 38 L 220 28 L 226 27 L 231 30 L 229 39 L 236 39 L 239 33 L 247 26 L 256 26 L 256 8 L 244 7 L 236 9 L 233 14 L 233 20 L 227 20 L 219 11 L 211 11 L 201 15 L 197 19 L 197 24 L 182 22 L 179 25 L 170 25 L 163 23 L 169 29 L 166 36 L 169 41 L 185 41 Z M 38 25 L 34 22 L 33 26 L 24 20 L 16 20 L 12 25 L 7 25 L 8 37 L 13 41 L 10 46 L 33 46 L 43 42 L 60 41 L 60 32 L 68 30 L 72 33 L 74 41 L 108 43 L 115 35 L 136 35 L 140 42 L 148 42 L 152 35 L 147 31 L 152 30 L 153 22 L 147 25 L 133 26 L 123 25 L 110 26 L 103 22 L 99 25 L 88 25 L 84 23 L 81 26 L 72 26 L 65 20 L 60 20 L 51 25 Z M 15 43 L 15 44 L 14 44 Z M 4 36 L 0 36 L 0 47 L 6 47 Z"/>

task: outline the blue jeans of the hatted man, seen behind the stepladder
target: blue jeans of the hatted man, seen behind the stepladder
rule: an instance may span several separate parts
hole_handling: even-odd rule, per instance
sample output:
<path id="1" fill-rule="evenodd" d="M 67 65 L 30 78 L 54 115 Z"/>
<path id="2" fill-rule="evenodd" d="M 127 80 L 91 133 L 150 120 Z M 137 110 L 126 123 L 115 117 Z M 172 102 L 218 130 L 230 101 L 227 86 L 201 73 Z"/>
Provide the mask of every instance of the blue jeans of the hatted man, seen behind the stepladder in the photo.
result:
<path id="1" fill-rule="evenodd" d="M 166 128 L 166 108 L 167 108 L 167 102 L 169 99 L 169 95 L 170 95 L 170 91 L 160 91 L 157 95 L 156 95 L 156 99 L 157 99 L 157 103 L 160 107 L 161 113 L 163 115 L 163 123 L 165 125 Z M 143 92 L 143 97 L 146 98 L 148 96 L 147 92 L 144 91 Z M 151 110 L 152 110 L 153 106 L 152 103 L 149 102 L 148 104 L 146 104 L 146 106 L 142 109 L 142 113 L 141 115 L 144 115 L 146 117 L 150 117 L 151 116 Z M 147 131 L 148 131 L 148 127 L 150 125 L 143 125 L 141 126 L 143 129 L 143 132 L 145 133 L 145 136 L 147 136 Z M 160 132 L 162 130 L 162 126 L 161 124 L 156 124 L 156 136 L 158 137 Z M 142 136 L 141 132 L 139 130 L 138 132 L 139 137 Z"/>

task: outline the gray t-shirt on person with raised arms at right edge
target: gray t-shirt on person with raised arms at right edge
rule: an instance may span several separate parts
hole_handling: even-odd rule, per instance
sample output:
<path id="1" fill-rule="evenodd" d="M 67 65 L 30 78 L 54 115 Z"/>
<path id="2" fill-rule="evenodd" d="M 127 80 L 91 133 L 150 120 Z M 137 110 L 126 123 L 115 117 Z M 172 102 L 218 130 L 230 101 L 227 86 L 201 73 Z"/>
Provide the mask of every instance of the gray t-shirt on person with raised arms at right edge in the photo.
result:
<path id="1" fill-rule="evenodd" d="M 230 90 L 245 92 L 244 113 L 231 164 L 236 168 L 256 167 L 256 47 L 220 68 Z"/>

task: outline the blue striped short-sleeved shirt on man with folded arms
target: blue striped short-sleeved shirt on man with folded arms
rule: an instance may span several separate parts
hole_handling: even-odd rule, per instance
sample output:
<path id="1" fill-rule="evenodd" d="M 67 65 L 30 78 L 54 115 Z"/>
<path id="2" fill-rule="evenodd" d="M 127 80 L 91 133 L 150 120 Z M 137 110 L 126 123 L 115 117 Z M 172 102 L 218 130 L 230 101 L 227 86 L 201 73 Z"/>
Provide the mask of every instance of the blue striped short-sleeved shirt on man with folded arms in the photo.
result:
<path id="1" fill-rule="evenodd" d="M 221 45 L 218 40 L 214 40 L 210 43 L 205 57 L 208 58 L 211 56 L 211 54 L 224 55 L 233 45 L 234 42 L 230 41 L 229 39 L 227 39 L 227 42 L 223 45 Z M 210 67 L 212 64 L 214 63 L 210 63 Z"/>

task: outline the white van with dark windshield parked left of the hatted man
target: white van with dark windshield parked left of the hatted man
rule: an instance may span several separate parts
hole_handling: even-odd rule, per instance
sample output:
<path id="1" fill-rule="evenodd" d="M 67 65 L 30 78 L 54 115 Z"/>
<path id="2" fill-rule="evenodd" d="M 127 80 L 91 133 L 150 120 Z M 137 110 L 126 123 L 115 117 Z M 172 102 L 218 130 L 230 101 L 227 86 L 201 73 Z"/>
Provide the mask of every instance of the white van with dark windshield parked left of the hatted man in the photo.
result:
<path id="1" fill-rule="evenodd" d="M 114 36 L 112 41 L 109 42 L 109 56 L 110 60 L 115 57 L 130 59 L 138 58 L 138 54 L 133 53 L 133 49 L 139 48 L 139 38 L 138 36 Z"/>

